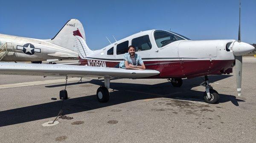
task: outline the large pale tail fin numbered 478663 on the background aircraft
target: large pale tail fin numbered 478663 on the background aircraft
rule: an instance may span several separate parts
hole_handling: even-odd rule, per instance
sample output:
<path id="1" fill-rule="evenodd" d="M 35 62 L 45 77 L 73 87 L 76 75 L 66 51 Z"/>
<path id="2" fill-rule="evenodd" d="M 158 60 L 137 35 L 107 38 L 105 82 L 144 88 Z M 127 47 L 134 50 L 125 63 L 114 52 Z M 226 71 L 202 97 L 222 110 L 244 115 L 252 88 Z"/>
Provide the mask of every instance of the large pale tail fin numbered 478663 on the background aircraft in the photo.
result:
<path id="1" fill-rule="evenodd" d="M 83 40 L 86 40 L 82 23 L 79 20 L 71 19 L 67 21 L 67 23 L 49 42 L 78 52 L 77 48 L 75 47 L 75 37 L 72 35 L 73 31 L 78 29 Z"/>

